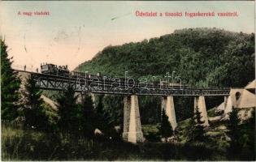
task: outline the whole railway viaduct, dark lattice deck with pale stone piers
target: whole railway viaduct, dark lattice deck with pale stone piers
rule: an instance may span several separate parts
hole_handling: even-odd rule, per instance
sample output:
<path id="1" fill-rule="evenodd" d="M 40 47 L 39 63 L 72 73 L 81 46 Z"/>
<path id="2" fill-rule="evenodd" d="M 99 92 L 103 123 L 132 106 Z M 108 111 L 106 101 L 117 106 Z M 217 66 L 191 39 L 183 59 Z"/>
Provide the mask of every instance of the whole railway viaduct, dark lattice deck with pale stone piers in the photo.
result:
<path id="1" fill-rule="evenodd" d="M 173 88 L 167 87 L 139 87 L 135 84 L 132 88 L 127 88 L 126 84 L 121 87 L 113 87 L 112 83 L 103 83 L 101 80 L 94 82 L 93 79 L 63 77 L 58 75 L 46 75 L 41 73 L 18 70 L 20 78 L 24 81 L 28 75 L 34 75 L 37 85 L 43 90 L 63 91 L 68 86 L 72 86 L 76 92 L 81 94 L 112 94 L 124 96 L 124 131 L 123 139 L 131 143 L 143 142 L 141 131 L 141 117 L 139 110 L 138 96 L 160 96 L 162 97 L 162 109 L 165 109 L 172 129 L 176 129 L 176 113 L 173 96 L 191 96 L 194 98 L 194 109 L 198 108 L 202 114 L 204 126 L 209 126 L 205 96 L 223 96 L 225 109 L 231 109 L 234 92 L 230 89 L 197 89 L 197 88 Z M 229 104 L 227 104 L 229 103 Z M 228 107 L 227 107 L 228 106 Z M 225 111 L 228 113 L 228 111 Z"/>

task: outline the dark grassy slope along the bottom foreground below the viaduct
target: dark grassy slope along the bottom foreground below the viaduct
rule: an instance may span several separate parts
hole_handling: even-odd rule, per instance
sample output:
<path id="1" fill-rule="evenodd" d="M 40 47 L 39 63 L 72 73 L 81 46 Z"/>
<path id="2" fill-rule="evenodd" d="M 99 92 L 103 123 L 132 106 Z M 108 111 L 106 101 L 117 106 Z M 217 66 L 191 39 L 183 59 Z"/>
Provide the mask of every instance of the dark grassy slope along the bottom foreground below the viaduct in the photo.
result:
<path id="1" fill-rule="evenodd" d="M 200 153 L 199 153 L 200 152 Z M 203 154 L 202 154 L 203 153 Z M 203 145 L 72 138 L 2 126 L 2 160 L 217 160 Z"/>

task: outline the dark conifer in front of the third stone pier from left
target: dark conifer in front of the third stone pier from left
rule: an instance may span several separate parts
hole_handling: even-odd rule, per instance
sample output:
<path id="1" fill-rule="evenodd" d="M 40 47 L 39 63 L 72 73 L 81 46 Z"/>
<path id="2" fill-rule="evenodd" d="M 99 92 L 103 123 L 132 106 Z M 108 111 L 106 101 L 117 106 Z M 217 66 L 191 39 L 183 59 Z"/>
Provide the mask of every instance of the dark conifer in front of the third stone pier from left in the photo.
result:
<path id="1" fill-rule="evenodd" d="M 207 139 L 206 130 L 203 126 L 201 112 L 198 107 L 196 108 L 195 114 L 191 119 L 191 126 L 189 130 L 189 141 L 190 142 L 203 142 Z"/>

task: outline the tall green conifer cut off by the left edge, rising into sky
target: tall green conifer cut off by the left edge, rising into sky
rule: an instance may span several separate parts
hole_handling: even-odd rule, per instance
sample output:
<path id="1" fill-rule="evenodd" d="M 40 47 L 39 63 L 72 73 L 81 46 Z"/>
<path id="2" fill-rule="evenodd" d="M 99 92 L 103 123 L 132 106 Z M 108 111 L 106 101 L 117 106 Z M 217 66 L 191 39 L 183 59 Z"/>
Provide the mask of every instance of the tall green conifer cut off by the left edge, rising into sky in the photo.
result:
<path id="1" fill-rule="evenodd" d="M 1 117 L 2 120 L 13 120 L 18 116 L 20 79 L 18 73 L 11 69 L 12 58 L 8 58 L 7 45 L 4 40 L 1 41 Z"/>

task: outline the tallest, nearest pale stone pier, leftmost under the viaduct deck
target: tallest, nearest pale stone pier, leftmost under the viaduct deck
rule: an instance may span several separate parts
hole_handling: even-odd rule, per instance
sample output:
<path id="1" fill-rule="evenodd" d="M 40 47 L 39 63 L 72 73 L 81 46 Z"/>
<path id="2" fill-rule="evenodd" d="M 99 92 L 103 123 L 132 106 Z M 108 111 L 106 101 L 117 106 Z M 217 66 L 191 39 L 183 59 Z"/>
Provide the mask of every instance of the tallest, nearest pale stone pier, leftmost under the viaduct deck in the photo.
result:
<path id="1" fill-rule="evenodd" d="M 123 139 L 131 143 L 144 141 L 141 130 L 141 117 L 138 96 L 124 97 L 124 133 Z"/>

